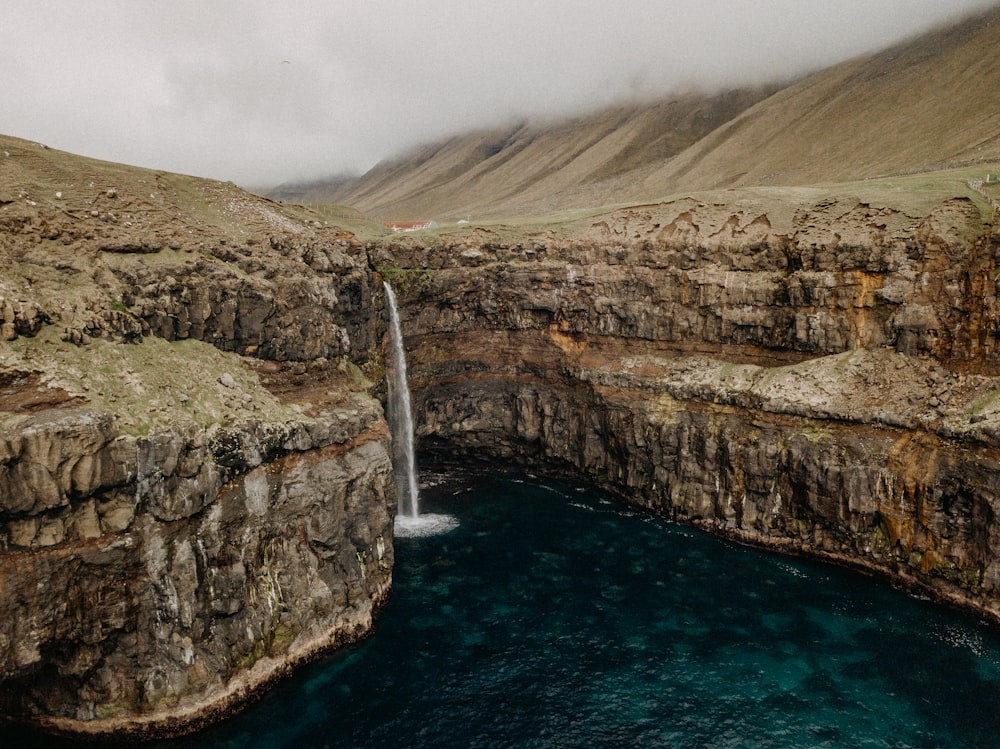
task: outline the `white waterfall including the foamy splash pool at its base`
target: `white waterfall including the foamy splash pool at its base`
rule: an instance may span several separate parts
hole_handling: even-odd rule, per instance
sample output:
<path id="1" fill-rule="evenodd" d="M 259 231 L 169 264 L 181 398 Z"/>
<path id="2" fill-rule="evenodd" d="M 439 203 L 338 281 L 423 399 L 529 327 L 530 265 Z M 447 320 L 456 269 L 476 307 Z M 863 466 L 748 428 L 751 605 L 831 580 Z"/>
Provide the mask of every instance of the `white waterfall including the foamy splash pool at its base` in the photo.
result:
<path id="1" fill-rule="evenodd" d="M 397 536 L 431 536 L 458 525 L 450 515 L 421 515 L 420 490 L 417 484 L 417 459 L 413 446 L 413 408 L 406 376 L 406 350 L 399 324 L 396 294 L 383 281 L 389 303 L 389 351 L 386 380 L 389 389 L 388 418 L 392 432 L 392 463 L 396 474 Z"/>

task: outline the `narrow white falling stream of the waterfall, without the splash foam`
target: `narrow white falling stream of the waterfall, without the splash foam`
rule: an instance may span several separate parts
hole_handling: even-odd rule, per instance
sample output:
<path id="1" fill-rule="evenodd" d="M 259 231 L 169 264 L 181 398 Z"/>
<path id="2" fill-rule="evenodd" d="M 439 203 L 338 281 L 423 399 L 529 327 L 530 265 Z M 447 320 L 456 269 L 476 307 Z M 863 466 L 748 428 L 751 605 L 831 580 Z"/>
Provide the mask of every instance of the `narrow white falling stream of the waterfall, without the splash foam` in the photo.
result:
<path id="1" fill-rule="evenodd" d="M 410 406 L 410 385 L 406 377 L 406 351 L 403 349 L 403 331 L 399 326 L 399 308 L 396 294 L 388 281 L 383 281 L 385 296 L 389 301 L 389 354 L 388 369 L 389 418 L 391 419 L 393 453 L 396 463 L 396 492 L 398 511 L 403 517 L 420 516 L 420 495 L 417 486 L 417 459 L 413 450 L 413 409 Z"/>

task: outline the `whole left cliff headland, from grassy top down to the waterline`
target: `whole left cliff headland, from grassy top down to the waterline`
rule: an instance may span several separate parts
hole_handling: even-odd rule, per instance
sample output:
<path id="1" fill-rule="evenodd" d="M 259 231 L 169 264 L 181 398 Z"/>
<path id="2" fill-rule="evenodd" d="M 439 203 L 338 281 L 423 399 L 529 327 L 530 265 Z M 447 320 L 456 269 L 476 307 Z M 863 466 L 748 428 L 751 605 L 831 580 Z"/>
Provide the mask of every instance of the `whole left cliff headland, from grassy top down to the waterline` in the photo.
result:
<path id="1" fill-rule="evenodd" d="M 0 714 L 189 730 L 367 634 L 395 484 L 364 248 L 13 139 L 0 177 Z"/>

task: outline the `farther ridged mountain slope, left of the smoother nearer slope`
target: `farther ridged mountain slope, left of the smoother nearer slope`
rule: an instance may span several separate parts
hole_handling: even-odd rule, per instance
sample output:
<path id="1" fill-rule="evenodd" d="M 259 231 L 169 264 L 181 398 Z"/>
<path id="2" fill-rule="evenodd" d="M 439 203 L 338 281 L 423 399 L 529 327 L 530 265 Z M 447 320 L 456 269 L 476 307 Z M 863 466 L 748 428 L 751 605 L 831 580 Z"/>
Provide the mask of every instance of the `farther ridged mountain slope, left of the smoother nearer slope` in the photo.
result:
<path id="1" fill-rule="evenodd" d="M 488 207 L 541 213 L 562 207 L 561 196 L 605 203 L 617 192 L 616 179 L 680 153 L 773 90 L 687 94 L 559 123 L 498 127 L 416 149 L 353 182 L 283 185 L 271 195 L 346 203 L 385 218 L 456 219 Z"/>

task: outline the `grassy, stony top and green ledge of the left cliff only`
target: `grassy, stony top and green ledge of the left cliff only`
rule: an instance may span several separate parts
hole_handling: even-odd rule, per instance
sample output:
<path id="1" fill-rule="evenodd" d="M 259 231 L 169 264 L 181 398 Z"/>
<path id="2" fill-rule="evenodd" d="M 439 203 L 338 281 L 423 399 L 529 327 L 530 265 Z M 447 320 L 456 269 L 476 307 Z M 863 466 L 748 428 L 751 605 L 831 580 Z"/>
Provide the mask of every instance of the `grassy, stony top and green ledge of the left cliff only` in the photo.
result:
<path id="1" fill-rule="evenodd" d="M 297 273 L 317 275 L 307 261 L 331 275 L 364 267 L 351 222 L 373 223 L 0 136 L 0 424 L 55 406 L 113 414 L 132 434 L 302 420 L 310 399 L 363 390 L 356 367 L 334 359 L 308 363 L 308 395 L 277 397 L 268 388 L 280 372 L 201 340 L 140 335 L 128 307 L 137 273 L 168 288 L 250 279 L 247 288 L 277 294 Z"/>

